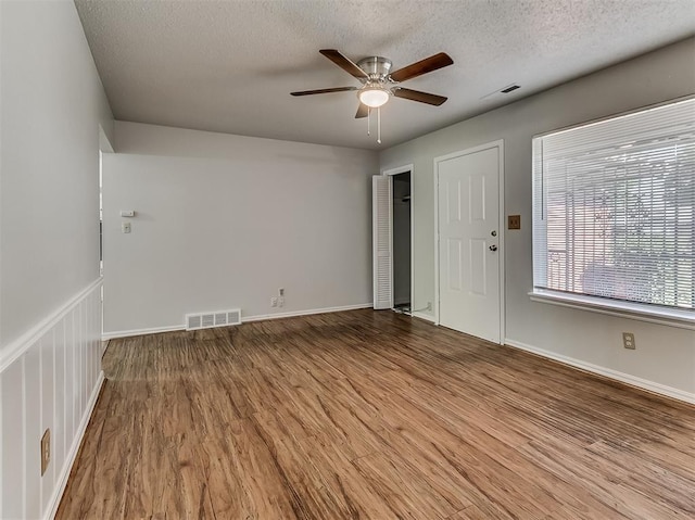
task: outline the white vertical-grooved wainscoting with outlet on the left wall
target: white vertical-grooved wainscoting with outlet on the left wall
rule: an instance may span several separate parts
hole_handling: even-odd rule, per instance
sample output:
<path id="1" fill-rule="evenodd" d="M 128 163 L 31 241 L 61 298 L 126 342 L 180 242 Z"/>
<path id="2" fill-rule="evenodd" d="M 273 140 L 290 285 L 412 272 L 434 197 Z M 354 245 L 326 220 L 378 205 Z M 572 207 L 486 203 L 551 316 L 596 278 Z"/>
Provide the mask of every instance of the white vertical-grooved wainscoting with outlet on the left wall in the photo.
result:
<path id="1" fill-rule="evenodd" d="M 0 518 L 52 518 L 65 487 L 101 375 L 101 280 L 12 345 L 0 372 Z M 40 440 L 51 430 L 41 477 Z"/>

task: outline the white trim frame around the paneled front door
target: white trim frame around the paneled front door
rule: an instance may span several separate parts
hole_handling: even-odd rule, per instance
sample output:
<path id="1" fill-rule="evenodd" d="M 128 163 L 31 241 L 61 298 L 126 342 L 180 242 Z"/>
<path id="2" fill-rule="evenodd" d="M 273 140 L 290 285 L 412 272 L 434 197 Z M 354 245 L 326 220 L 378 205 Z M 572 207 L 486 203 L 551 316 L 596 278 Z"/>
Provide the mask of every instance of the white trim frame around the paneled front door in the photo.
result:
<path id="1" fill-rule="evenodd" d="M 446 155 L 440 155 L 434 157 L 433 161 L 433 178 L 434 178 L 434 324 L 440 325 L 439 321 L 439 294 L 440 294 L 440 274 L 439 274 L 439 163 L 448 161 L 450 158 L 460 157 L 463 155 L 469 155 L 471 153 L 482 152 L 483 150 L 497 149 L 497 189 L 498 189 L 498 206 L 500 206 L 500 344 L 504 344 L 505 340 L 505 256 L 506 250 L 504 246 L 504 239 L 506 234 L 505 227 L 505 207 L 504 207 L 504 139 L 496 141 L 490 141 L 478 147 L 467 148 L 458 152 L 448 153 Z"/>

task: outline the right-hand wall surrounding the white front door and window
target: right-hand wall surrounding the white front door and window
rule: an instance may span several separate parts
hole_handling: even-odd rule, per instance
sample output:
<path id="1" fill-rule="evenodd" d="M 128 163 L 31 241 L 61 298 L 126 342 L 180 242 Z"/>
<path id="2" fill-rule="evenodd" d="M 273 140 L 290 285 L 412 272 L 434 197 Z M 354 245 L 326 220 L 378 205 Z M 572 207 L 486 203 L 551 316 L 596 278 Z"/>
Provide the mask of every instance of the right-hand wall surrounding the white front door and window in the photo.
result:
<path id="1" fill-rule="evenodd" d="M 504 139 L 505 213 L 520 214 L 522 224 L 519 231 L 505 231 L 506 342 L 612 370 L 636 383 L 665 385 L 672 394 L 695 399 L 694 331 L 531 302 L 528 296 L 532 136 L 693 93 L 694 63 L 695 40 L 690 39 L 381 152 L 382 170 L 415 165 L 413 306 L 434 301 L 433 158 Z M 635 351 L 622 348 L 622 331 L 635 333 Z"/>

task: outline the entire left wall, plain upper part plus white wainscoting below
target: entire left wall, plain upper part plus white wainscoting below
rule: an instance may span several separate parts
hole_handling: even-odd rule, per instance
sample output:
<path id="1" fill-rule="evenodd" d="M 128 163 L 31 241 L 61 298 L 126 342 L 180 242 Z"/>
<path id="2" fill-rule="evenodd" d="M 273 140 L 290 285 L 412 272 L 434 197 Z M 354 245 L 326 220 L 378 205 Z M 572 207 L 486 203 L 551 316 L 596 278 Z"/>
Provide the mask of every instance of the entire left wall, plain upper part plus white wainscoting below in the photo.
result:
<path id="1" fill-rule="evenodd" d="M 0 2 L 0 518 L 35 519 L 99 386 L 99 125 L 113 128 L 73 2 Z"/>

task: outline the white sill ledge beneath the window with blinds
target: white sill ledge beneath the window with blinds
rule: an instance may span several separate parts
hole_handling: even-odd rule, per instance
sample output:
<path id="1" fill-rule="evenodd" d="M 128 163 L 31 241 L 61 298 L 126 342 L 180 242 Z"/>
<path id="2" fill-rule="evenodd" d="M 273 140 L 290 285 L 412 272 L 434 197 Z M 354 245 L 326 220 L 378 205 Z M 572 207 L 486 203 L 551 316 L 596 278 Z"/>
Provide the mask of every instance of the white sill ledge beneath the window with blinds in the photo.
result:
<path id="1" fill-rule="evenodd" d="M 563 307 L 579 308 L 621 318 L 639 319 L 650 324 L 695 330 L 695 313 L 692 310 L 653 307 L 650 305 L 629 302 L 612 302 L 599 297 L 565 294 L 541 289 L 531 291 L 529 296 L 533 302 L 548 303 Z"/>

